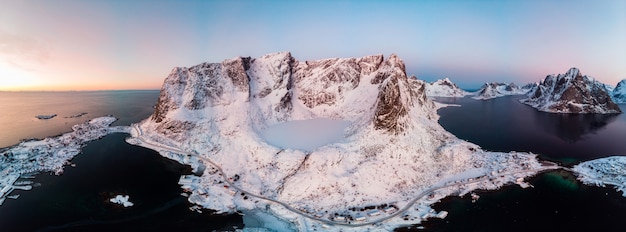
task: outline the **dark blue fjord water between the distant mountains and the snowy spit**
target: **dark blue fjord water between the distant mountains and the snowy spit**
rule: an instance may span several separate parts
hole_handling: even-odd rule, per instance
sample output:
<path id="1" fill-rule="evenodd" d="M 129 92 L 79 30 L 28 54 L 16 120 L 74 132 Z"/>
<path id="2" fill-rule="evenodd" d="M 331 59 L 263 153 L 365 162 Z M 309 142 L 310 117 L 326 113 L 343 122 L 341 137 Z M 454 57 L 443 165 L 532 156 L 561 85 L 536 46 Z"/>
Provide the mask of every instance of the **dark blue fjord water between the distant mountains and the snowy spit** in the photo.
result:
<path id="1" fill-rule="evenodd" d="M 528 151 L 566 165 L 626 155 L 626 114 L 545 113 L 519 103 L 522 98 L 439 98 L 440 102 L 461 105 L 440 109 L 439 123 L 485 150 Z M 620 108 L 626 112 L 626 105 Z"/>

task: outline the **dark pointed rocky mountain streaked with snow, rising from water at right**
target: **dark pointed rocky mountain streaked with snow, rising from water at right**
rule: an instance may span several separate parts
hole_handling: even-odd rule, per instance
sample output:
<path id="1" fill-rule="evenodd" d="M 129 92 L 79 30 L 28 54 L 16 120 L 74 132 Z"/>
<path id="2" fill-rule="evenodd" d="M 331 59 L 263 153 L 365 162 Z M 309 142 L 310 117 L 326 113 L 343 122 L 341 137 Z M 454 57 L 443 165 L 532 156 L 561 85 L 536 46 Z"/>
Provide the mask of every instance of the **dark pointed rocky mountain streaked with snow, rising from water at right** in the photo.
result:
<path id="1" fill-rule="evenodd" d="M 536 88 L 520 100 L 540 111 L 552 113 L 621 113 L 611 100 L 605 85 L 577 68 L 567 73 L 548 75 Z"/>

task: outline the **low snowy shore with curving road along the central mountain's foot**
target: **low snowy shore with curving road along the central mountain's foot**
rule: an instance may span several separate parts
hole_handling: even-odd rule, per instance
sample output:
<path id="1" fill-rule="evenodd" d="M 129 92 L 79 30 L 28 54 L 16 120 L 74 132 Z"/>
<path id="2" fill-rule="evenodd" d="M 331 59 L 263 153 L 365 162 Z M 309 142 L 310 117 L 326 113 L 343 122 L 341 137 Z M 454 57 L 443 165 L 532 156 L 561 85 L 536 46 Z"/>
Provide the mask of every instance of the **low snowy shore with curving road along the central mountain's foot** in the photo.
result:
<path id="1" fill-rule="evenodd" d="M 406 196 L 403 199 L 374 206 L 374 210 L 363 210 L 372 207 L 367 204 L 354 209 L 310 208 L 301 207 L 295 203 L 280 202 L 278 199 L 263 199 L 264 197 L 261 200 L 265 201 L 259 202 L 258 197 L 251 196 L 254 193 L 238 186 L 235 179 L 223 173 L 223 167 L 203 162 L 207 160 L 206 157 L 184 152 L 172 146 L 162 146 L 140 133 L 140 127 L 134 124 L 131 130 L 133 137 L 128 141 L 159 151 L 162 155 L 183 164 L 196 167 L 207 165 L 202 176 L 182 176 L 179 181 L 181 187 L 188 192 L 189 202 L 203 208 L 217 210 L 218 213 L 262 210 L 265 214 L 269 213 L 283 221 L 291 222 L 290 227 L 298 228 L 298 230 L 356 231 L 364 228 L 393 230 L 400 226 L 418 224 L 427 218 L 445 217 L 447 214 L 445 211 L 435 212 L 431 208 L 432 204 L 445 197 L 463 196 L 479 189 L 495 190 L 508 184 L 529 187 L 530 185 L 524 182 L 525 178 L 535 176 L 539 172 L 560 168 L 549 162 L 538 161 L 534 154 L 477 150 L 476 155 L 483 158 L 477 163 L 477 168 L 442 177 L 433 185 L 420 187 L 421 191 L 415 191 L 414 196 Z"/>

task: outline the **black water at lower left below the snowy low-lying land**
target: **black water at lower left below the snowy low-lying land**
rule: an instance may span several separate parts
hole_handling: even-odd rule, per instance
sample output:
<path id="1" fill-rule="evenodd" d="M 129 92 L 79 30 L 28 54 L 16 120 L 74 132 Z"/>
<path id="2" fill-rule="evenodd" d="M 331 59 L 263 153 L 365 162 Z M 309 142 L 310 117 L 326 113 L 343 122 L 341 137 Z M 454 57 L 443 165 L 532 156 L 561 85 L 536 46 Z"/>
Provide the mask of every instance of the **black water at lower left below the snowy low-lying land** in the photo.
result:
<path id="1" fill-rule="evenodd" d="M 191 168 L 111 134 L 89 143 L 63 175 L 43 173 L 41 183 L 0 206 L 0 231 L 212 231 L 241 227 L 239 215 L 189 210 L 180 175 Z M 129 195 L 123 208 L 108 200 Z"/>

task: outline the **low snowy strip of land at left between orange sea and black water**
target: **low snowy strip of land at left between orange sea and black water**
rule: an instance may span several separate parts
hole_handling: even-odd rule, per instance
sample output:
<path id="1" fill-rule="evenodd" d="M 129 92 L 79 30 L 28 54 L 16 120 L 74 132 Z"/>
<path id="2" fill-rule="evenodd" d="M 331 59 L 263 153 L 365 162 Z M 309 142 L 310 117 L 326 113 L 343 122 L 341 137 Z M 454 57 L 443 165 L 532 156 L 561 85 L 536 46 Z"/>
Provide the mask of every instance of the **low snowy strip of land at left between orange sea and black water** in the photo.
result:
<path id="1" fill-rule="evenodd" d="M 87 142 L 109 133 L 128 132 L 128 127 L 109 127 L 114 117 L 94 118 L 72 126 L 72 132 L 46 138 L 29 140 L 15 146 L 0 149 L 0 205 L 13 189 L 30 190 L 29 181 L 17 181 L 20 177 L 37 172 L 63 173 L 68 161 L 80 153 Z M 25 184 L 20 184 L 22 182 Z"/>

